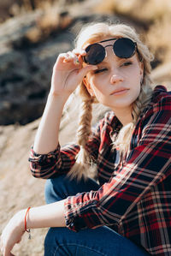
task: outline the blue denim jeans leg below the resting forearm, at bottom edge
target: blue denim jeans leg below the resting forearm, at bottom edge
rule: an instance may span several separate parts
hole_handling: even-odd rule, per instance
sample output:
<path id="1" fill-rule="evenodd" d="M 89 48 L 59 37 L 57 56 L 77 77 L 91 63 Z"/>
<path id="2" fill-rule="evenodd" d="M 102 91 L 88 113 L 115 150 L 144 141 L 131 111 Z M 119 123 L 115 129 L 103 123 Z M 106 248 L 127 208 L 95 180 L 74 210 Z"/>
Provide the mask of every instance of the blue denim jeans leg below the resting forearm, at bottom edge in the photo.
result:
<path id="1" fill-rule="evenodd" d="M 50 228 L 44 241 L 44 256 L 144 256 L 146 253 L 127 238 L 106 226 L 74 232 Z"/>

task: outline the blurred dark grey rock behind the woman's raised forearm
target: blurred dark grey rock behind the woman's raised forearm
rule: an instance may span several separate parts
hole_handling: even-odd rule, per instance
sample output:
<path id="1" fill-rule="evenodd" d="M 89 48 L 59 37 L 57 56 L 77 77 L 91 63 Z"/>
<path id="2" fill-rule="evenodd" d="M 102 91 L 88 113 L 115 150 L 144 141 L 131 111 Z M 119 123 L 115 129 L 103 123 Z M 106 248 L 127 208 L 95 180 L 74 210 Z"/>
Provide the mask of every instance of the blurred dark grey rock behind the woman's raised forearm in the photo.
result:
<path id="1" fill-rule="evenodd" d="M 106 19 L 106 15 L 79 16 L 73 10 L 69 15 L 56 7 L 5 22 L 0 27 L 0 125 L 24 125 L 41 116 L 57 55 L 74 47 L 85 22 Z M 116 19 L 111 16 L 111 21 Z"/>

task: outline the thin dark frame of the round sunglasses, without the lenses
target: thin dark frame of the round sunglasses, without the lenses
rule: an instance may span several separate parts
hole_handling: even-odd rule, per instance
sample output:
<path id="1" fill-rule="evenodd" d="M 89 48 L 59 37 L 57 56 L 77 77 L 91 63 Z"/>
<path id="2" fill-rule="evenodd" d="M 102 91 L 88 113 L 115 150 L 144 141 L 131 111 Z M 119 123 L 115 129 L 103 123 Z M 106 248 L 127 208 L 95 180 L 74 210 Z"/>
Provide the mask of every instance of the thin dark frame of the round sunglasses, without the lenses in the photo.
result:
<path id="1" fill-rule="evenodd" d="M 132 39 L 128 39 L 128 38 L 106 39 L 106 40 L 103 40 L 103 41 L 100 41 L 100 42 L 91 44 L 91 45 L 100 45 L 99 43 L 103 43 L 103 42 L 108 42 L 108 41 L 115 40 L 115 42 L 114 42 L 113 45 L 105 45 L 105 46 L 100 45 L 100 47 L 102 47 L 102 49 L 104 50 L 105 53 L 104 53 L 104 57 L 103 57 L 102 61 L 100 61 L 100 62 L 98 62 L 98 63 L 102 63 L 103 60 L 104 60 L 104 58 L 106 57 L 106 55 L 107 55 L 107 52 L 106 52 L 106 50 L 105 50 L 106 47 L 112 46 L 112 50 L 113 50 L 114 53 L 115 53 L 115 43 L 116 43 L 118 40 L 120 40 L 120 39 L 127 39 L 127 40 L 130 40 L 130 41 L 132 41 L 132 43 L 133 43 L 133 45 L 134 45 L 133 54 L 132 54 L 131 56 L 129 56 L 129 57 L 121 57 L 121 58 L 130 58 L 130 57 L 133 57 L 133 55 L 135 54 L 135 51 L 138 51 L 138 47 L 137 47 L 137 43 L 136 43 L 136 42 L 133 42 Z M 85 48 L 85 51 L 86 51 L 87 48 L 90 48 L 91 45 L 88 45 L 88 46 Z M 86 52 L 88 52 L 88 51 L 86 51 Z M 117 53 L 117 52 L 116 52 L 116 53 Z M 116 53 L 115 53 L 115 55 L 116 55 L 117 57 L 120 57 L 120 56 L 118 56 Z M 96 64 L 98 64 L 98 63 L 90 63 L 90 62 L 88 62 L 88 61 L 86 60 L 86 56 L 83 57 L 83 60 L 84 60 L 85 63 L 91 64 L 91 65 L 96 65 Z"/>

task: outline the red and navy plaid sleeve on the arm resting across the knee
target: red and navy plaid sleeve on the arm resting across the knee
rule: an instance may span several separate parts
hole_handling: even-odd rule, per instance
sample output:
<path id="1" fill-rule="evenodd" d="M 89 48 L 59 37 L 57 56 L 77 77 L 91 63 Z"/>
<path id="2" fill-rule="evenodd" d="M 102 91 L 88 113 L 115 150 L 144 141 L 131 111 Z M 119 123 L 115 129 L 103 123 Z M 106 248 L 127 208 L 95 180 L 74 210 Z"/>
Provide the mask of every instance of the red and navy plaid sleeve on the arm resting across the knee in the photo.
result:
<path id="1" fill-rule="evenodd" d="M 170 175 L 171 100 L 162 98 L 147 111 L 141 139 L 117 174 L 97 191 L 78 193 L 65 201 L 68 229 L 118 226 L 144 193 Z"/>

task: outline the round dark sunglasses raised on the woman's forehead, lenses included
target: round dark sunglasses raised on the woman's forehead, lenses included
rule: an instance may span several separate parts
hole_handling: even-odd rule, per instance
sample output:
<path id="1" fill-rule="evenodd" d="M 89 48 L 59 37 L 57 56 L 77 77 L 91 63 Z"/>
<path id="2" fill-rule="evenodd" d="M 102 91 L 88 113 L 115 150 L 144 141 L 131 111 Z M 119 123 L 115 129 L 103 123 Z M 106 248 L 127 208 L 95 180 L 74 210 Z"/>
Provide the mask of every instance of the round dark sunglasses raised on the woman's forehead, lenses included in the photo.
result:
<path id="1" fill-rule="evenodd" d="M 103 46 L 99 44 L 99 43 L 103 43 L 111 40 L 115 40 L 113 45 Z M 121 58 L 133 57 L 137 49 L 137 43 L 133 42 L 133 40 L 131 39 L 127 39 L 127 38 L 107 39 L 92 45 L 88 45 L 85 48 L 86 55 L 85 57 L 83 57 L 84 62 L 91 65 L 102 63 L 103 59 L 106 57 L 105 48 L 108 46 L 113 46 L 113 51 L 115 55 Z"/>

